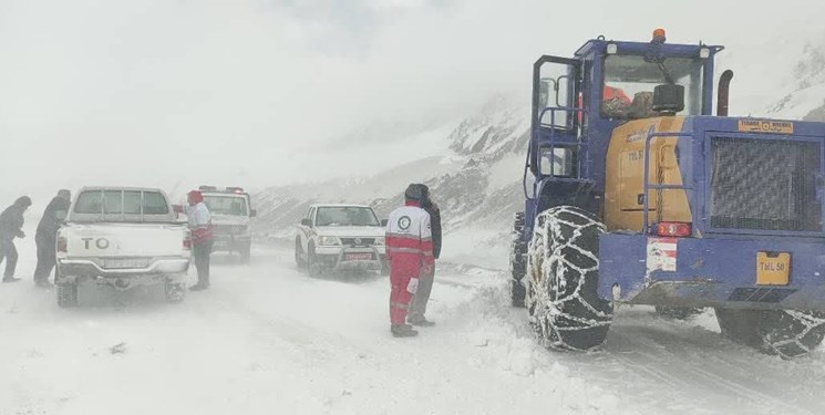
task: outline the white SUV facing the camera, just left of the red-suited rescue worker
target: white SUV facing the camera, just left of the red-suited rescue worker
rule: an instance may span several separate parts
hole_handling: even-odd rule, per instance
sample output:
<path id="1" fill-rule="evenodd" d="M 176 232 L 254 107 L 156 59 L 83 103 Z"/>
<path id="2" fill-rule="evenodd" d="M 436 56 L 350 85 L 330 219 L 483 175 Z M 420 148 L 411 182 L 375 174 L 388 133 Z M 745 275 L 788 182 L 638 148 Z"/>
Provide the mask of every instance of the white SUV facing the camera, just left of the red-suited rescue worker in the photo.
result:
<path id="1" fill-rule="evenodd" d="M 298 226 L 295 260 L 310 276 L 326 270 L 386 270 L 384 222 L 365 205 L 312 205 Z"/>

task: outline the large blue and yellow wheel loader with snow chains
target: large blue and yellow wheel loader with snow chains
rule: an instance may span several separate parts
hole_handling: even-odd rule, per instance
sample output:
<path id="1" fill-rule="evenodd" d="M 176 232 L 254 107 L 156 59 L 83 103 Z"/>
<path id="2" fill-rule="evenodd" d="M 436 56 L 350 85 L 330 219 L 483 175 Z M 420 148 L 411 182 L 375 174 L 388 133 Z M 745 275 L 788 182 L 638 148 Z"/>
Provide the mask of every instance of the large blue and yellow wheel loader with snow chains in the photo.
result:
<path id="1" fill-rule="evenodd" d="M 825 124 L 728 116 L 723 46 L 586 42 L 533 71 L 512 301 L 550 349 L 607 339 L 617 304 L 802 356 L 825 336 Z"/>

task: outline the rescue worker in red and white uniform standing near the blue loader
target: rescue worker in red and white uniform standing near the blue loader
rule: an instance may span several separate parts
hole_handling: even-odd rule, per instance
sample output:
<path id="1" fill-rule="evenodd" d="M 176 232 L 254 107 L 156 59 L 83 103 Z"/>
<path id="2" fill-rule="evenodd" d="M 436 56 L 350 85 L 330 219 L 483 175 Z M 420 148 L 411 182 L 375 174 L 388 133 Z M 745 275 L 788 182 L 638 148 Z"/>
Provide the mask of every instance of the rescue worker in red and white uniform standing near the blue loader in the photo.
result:
<path id="1" fill-rule="evenodd" d="M 406 312 L 419 288 L 419 277 L 433 268 L 430 214 L 421 208 L 424 189 L 410 185 L 405 206 L 390 214 L 386 222 L 386 259 L 390 263 L 390 331 L 396 338 L 419 334 L 406 324 Z"/>

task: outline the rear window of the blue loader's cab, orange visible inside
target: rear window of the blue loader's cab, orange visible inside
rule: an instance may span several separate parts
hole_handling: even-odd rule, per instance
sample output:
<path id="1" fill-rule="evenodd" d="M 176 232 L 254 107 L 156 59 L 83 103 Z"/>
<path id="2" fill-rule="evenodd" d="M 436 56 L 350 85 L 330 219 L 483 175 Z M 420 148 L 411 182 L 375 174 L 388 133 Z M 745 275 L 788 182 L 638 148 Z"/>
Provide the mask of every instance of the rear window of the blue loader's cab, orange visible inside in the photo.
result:
<path id="1" fill-rule="evenodd" d="M 601 116 L 613 120 L 638 120 L 658 116 L 653 112 L 657 85 L 684 86 L 684 110 L 677 115 L 702 112 L 702 61 L 693 58 L 668 58 L 660 68 L 641 55 L 605 58 Z"/>

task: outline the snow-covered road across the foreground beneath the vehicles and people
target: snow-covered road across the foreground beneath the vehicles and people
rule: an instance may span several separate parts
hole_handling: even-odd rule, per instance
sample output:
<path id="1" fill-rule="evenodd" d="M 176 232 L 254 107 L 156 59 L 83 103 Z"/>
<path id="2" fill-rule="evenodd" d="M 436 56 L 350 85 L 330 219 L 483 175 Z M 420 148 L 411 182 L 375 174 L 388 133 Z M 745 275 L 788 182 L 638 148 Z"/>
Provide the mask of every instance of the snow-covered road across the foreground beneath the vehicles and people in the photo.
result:
<path id="1" fill-rule="evenodd" d="M 712 312 L 622 308 L 602 351 L 554 353 L 508 307 L 503 271 L 453 267 L 433 290 L 437 325 L 398 340 L 385 277 L 311 279 L 272 247 L 247 267 L 216 255 L 213 288 L 182 304 L 61 310 L 31 283 L 32 242 L 27 280 L 0 284 L 3 415 L 825 412 L 825 353 L 759 354 Z"/>

